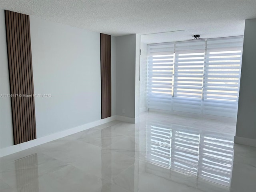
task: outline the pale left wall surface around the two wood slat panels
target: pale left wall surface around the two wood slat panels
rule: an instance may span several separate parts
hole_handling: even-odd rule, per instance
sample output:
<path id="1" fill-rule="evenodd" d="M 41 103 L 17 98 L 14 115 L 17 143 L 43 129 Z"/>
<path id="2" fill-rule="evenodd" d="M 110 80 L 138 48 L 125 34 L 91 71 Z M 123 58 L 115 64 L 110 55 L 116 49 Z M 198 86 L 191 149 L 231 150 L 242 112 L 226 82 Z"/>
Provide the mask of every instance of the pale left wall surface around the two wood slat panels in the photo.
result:
<path id="1" fill-rule="evenodd" d="M 10 94 L 4 10 L 0 10 L 1 94 Z M 100 34 L 30 16 L 37 138 L 101 119 Z M 112 116 L 116 38 L 111 38 Z M 1 98 L 1 148 L 13 145 L 10 98 Z"/>

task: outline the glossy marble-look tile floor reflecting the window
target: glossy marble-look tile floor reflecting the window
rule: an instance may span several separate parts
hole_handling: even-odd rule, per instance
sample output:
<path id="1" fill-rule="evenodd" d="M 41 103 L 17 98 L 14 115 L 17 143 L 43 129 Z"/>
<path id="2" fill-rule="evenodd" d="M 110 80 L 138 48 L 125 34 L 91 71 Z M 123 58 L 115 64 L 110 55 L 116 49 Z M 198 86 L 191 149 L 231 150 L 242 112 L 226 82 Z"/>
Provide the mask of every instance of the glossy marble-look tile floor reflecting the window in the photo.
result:
<path id="1" fill-rule="evenodd" d="M 144 112 L 0 159 L 1 192 L 255 192 L 235 122 Z"/>

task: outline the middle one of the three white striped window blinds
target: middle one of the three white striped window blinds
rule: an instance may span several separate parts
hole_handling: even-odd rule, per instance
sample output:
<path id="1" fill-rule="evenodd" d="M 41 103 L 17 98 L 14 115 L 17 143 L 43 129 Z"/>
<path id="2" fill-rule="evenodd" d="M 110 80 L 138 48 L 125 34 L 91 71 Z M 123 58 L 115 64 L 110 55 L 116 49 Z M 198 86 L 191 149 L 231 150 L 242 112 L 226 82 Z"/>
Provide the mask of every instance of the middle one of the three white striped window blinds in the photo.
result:
<path id="1" fill-rule="evenodd" d="M 201 112 L 205 40 L 175 43 L 173 110 Z"/>

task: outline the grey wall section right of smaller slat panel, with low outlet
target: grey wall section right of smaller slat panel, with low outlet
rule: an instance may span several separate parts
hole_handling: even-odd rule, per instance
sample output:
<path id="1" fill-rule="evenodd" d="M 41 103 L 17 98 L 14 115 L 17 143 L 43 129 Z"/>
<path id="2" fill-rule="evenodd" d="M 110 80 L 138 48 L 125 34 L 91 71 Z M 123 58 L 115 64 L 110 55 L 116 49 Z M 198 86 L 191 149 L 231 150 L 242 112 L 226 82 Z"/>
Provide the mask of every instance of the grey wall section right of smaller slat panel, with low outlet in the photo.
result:
<path id="1" fill-rule="evenodd" d="M 135 65 L 136 34 L 116 37 L 116 115 L 135 118 Z"/>

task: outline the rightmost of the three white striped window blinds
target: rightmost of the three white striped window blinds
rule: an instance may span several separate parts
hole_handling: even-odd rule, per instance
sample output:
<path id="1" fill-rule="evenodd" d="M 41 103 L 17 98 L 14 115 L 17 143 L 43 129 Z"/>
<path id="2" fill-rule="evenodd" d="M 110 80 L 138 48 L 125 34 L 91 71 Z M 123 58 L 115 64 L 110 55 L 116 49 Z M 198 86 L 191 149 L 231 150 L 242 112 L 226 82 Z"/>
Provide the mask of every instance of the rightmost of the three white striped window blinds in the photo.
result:
<path id="1" fill-rule="evenodd" d="M 204 114 L 236 117 L 243 38 L 207 41 Z"/>

